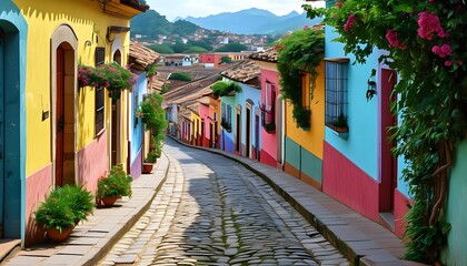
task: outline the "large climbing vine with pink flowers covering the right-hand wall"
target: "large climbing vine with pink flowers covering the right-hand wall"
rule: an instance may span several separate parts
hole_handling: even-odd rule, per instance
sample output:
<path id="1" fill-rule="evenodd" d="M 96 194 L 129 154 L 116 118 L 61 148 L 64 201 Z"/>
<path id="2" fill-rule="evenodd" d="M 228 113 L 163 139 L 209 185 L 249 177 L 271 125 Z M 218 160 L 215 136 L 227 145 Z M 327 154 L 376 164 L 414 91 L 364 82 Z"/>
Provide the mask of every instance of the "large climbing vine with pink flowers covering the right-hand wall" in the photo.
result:
<path id="1" fill-rule="evenodd" d="M 387 51 L 380 60 L 399 76 L 394 153 L 405 158 L 403 178 L 415 200 L 406 216 L 406 258 L 438 262 L 450 228 L 443 207 L 453 150 L 467 129 L 466 1 L 347 0 L 304 8 L 310 18 L 322 16 L 358 62 L 374 49 Z"/>

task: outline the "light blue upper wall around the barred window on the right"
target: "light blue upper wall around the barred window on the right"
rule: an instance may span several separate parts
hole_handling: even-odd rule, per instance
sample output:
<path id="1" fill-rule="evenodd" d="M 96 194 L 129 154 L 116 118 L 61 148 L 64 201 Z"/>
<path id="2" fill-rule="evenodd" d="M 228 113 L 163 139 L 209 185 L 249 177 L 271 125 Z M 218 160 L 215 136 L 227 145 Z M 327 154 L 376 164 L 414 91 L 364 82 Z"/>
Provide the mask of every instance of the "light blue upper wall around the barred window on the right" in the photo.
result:
<path id="1" fill-rule="evenodd" d="M 367 59 L 365 65 L 356 63 L 352 54 L 345 54 L 344 44 L 329 41 L 338 35 L 326 27 L 325 58 L 349 58 L 348 65 L 348 125 L 347 140 L 326 127 L 325 140 L 372 178 L 378 180 L 378 101 L 367 101 L 367 80 L 371 69 L 378 69 L 378 54 Z M 378 96 L 378 95 L 376 95 Z"/>

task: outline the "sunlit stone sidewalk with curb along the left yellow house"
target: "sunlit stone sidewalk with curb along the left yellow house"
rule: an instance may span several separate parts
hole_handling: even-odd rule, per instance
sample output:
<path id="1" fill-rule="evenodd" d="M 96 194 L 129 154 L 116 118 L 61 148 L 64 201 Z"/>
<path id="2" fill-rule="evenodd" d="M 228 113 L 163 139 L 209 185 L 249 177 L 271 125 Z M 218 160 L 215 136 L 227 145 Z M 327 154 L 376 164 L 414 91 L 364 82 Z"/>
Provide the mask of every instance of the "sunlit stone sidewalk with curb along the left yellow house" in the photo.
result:
<path id="1" fill-rule="evenodd" d="M 1 265 L 97 265 L 127 231 L 146 213 L 163 184 L 169 161 L 162 155 L 151 174 L 132 184 L 131 198 L 119 200 L 113 207 L 95 209 L 89 221 L 80 223 L 62 244 L 36 245 L 20 250 Z"/>

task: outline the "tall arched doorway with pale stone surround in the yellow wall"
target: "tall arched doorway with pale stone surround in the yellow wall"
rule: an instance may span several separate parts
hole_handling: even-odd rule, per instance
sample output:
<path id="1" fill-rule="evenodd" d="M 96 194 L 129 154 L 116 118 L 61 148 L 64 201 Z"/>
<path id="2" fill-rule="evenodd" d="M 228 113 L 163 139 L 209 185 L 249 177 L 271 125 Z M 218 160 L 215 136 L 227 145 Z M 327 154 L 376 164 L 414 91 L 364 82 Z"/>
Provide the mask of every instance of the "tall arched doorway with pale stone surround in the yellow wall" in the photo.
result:
<path id="1" fill-rule="evenodd" d="M 56 186 L 76 184 L 76 50 L 78 40 L 68 25 L 51 39 L 52 151 Z"/>

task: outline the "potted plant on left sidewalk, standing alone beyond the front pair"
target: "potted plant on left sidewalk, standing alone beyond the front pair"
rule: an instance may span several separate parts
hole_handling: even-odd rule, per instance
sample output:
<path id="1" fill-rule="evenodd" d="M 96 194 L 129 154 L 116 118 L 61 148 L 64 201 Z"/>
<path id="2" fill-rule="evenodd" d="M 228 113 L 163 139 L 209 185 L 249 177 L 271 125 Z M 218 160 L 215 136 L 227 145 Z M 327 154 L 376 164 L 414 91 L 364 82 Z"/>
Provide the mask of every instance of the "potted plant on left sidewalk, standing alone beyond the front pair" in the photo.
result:
<path id="1" fill-rule="evenodd" d="M 106 206 L 112 206 L 122 196 L 131 196 L 131 175 L 128 175 L 122 165 L 112 166 L 107 177 L 98 181 L 96 197 Z"/>

